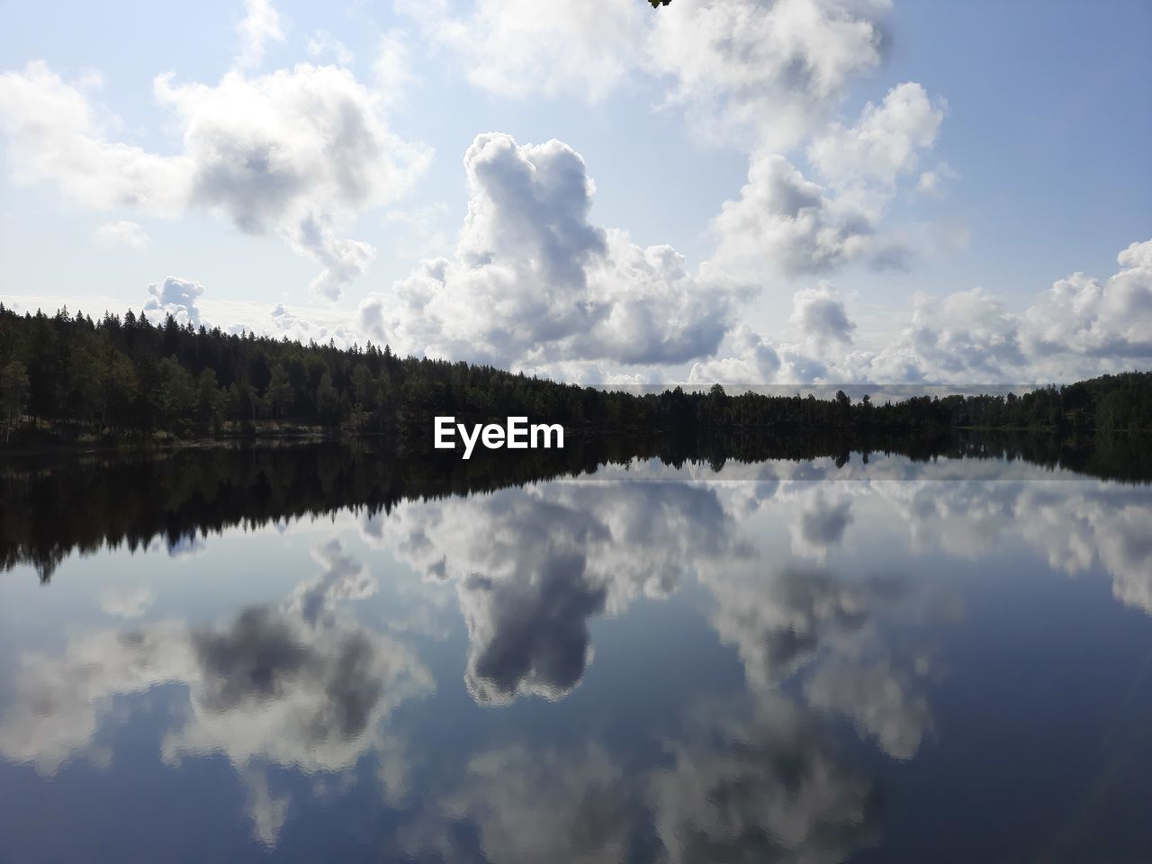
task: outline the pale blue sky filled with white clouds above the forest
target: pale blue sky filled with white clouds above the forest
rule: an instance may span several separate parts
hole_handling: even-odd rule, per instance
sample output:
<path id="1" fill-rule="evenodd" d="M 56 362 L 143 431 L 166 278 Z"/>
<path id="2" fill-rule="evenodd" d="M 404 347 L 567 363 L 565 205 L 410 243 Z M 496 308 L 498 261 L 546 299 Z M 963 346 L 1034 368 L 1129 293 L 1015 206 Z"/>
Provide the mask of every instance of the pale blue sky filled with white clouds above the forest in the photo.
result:
<path id="1" fill-rule="evenodd" d="M 586 384 L 1149 369 L 1145 0 L 0 0 L 0 301 Z"/>

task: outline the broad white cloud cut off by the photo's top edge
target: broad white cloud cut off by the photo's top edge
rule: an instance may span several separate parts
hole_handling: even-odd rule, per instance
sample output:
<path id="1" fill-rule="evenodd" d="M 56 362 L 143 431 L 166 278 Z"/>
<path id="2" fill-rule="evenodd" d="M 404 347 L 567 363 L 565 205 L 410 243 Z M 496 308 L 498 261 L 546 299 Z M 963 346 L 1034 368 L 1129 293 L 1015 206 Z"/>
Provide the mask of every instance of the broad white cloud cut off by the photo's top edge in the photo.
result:
<path id="1" fill-rule="evenodd" d="M 677 0 L 659 15 L 628 0 L 479 0 L 464 15 L 444 0 L 399 8 L 488 93 L 596 101 L 645 75 L 667 82 L 666 101 L 708 137 L 785 149 L 880 65 L 889 2 Z"/>

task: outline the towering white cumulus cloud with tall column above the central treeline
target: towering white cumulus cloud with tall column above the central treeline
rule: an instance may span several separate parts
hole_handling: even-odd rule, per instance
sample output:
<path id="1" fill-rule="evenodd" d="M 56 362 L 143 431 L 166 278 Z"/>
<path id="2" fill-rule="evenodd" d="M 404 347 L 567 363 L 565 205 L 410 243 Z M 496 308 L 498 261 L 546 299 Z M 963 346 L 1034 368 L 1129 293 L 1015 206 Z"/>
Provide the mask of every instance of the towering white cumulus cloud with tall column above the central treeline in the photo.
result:
<path id="1" fill-rule="evenodd" d="M 669 247 L 590 223 L 594 187 L 569 146 L 480 135 L 464 167 L 471 198 L 455 257 L 365 300 L 359 324 L 373 339 L 521 366 L 670 364 L 715 348 L 735 288 L 692 275 Z"/>

